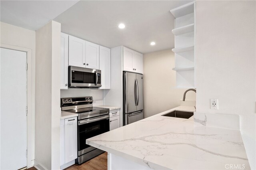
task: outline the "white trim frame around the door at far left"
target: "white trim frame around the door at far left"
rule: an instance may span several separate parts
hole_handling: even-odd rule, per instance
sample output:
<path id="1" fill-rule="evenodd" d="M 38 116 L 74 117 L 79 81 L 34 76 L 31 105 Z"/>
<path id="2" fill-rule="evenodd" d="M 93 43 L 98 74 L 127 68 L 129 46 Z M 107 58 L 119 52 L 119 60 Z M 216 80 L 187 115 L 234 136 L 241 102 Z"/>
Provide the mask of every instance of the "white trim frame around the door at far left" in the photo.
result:
<path id="1" fill-rule="evenodd" d="M 32 49 L 19 47 L 15 45 L 9 45 L 0 43 L 0 47 L 13 49 L 17 51 L 24 51 L 27 53 L 27 105 L 28 105 L 28 116 L 27 116 L 27 167 L 34 165 L 34 113 L 32 113 Z"/>

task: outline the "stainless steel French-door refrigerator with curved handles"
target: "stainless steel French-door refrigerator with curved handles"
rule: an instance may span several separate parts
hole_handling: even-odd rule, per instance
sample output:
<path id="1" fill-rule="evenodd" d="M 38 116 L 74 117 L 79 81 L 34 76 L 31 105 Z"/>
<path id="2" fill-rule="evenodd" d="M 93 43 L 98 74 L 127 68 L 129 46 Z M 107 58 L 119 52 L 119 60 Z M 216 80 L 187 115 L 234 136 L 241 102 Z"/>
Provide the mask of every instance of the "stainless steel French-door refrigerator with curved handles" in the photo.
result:
<path id="1" fill-rule="evenodd" d="M 144 119 L 143 75 L 124 72 L 124 125 Z"/>

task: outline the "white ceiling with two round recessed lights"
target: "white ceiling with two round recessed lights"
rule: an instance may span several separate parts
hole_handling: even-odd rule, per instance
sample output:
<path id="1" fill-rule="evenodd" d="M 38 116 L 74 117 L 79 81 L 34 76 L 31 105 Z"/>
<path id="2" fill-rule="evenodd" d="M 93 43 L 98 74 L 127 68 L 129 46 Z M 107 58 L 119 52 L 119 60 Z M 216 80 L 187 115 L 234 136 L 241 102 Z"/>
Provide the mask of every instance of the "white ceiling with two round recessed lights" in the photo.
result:
<path id="1" fill-rule="evenodd" d="M 38 30 L 50 20 L 62 32 L 106 47 L 124 45 L 141 53 L 174 47 L 171 9 L 191 0 L 1 0 L 0 20 Z M 120 30 L 119 23 L 126 28 Z M 150 42 L 156 42 L 151 46 Z"/>

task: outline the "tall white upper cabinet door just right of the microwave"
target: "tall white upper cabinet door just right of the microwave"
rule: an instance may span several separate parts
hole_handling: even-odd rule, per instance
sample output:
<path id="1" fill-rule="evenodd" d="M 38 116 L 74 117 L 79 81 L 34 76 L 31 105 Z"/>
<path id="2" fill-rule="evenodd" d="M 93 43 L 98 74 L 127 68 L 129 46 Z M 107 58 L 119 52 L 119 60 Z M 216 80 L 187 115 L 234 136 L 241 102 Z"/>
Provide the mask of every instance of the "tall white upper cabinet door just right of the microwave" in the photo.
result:
<path id="1" fill-rule="evenodd" d="M 110 49 L 100 46 L 100 70 L 101 85 L 100 89 L 110 89 Z"/>

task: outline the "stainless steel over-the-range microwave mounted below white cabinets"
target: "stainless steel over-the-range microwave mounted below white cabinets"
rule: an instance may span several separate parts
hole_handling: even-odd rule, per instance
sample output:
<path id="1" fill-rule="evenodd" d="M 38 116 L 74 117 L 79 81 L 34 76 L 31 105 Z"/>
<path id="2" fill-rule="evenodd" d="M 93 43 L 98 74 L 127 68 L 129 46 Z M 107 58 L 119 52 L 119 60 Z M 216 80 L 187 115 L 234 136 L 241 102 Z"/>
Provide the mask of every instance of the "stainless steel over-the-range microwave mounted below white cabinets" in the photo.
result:
<path id="1" fill-rule="evenodd" d="M 82 67 L 68 67 L 68 87 L 98 88 L 101 87 L 101 71 Z"/>

